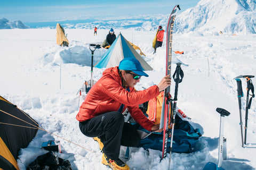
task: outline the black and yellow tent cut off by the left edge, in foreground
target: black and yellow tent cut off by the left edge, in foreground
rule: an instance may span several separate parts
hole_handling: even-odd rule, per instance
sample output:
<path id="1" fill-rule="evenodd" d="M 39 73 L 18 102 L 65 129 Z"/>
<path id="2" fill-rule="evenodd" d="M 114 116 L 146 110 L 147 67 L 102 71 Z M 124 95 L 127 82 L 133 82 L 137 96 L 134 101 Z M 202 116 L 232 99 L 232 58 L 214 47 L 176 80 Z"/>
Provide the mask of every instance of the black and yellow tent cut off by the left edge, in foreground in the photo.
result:
<path id="1" fill-rule="evenodd" d="M 0 169 L 19 169 L 19 150 L 35 137 L 38 124 L 0 96 Z"/>

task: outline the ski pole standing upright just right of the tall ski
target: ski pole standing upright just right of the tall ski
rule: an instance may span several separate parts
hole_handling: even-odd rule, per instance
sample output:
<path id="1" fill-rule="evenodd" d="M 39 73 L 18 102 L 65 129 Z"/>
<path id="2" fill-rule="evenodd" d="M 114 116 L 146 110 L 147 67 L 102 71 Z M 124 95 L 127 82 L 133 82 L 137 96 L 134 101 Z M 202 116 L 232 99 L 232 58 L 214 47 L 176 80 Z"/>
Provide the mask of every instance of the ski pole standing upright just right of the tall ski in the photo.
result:
<path id="1" fill-rule="evenodd" d="M 177 98 L 177 96 L 178 96 L 178 87 L 179 87 L 179 83 L 182 81 L 182 79 L 184 77 L 184 73 L 181 70 L 180 65 L 181 65 L 181 63 L 177 63 L 176 70 L 173 74 L 173 79 L 175 81 L 175 91 L 174 91 L 174 99 L 173 99 L 174 103 L 173 103 L 173 115 L 172 115 L 172 133 L 171 133 L 170 157 L 169 157 L 168 169 L 170 169 L 170 167 L 171 167 L 173 131 L 174 131 L 175 116 L 177 114 L 176 106 L 177 106 L 177 100 L 178 100 L 178 98 Z"/>

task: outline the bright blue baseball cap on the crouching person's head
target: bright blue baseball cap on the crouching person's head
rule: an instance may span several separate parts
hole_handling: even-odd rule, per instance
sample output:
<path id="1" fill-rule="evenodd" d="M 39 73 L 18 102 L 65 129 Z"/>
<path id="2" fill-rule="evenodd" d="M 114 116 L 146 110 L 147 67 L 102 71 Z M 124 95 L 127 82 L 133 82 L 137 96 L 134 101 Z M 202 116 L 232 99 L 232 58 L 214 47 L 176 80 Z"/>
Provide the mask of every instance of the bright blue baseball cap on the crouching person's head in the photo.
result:
<path id="1" fill-rule="evenodd" d="M 145 70 L 142 68 L 140 62 L 136 58 L 124 58 L 119 63 L 119 70 L 129 70 L 137 75 L 148 77 L 148 74 L 143 72 Z"/>

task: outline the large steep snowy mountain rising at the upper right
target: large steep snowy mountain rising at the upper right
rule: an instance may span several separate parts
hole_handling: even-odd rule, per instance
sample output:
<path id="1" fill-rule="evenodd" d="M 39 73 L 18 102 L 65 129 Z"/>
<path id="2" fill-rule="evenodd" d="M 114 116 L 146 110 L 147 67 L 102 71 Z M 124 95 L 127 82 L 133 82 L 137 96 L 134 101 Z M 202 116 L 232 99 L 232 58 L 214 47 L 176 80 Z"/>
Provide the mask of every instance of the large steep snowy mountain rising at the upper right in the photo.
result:
<path id="1" fill-rule="evenodd" d="M 253 0 L 201 0 L 179 15 L 177 32 L 256 32 L 256 2 Z"/>

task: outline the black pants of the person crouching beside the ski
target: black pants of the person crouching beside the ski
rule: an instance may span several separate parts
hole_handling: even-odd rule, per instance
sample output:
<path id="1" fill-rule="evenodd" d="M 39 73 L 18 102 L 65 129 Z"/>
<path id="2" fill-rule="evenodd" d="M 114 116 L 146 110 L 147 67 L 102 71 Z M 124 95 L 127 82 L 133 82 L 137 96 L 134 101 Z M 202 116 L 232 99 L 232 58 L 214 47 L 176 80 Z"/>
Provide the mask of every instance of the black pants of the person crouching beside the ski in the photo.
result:
<path id="1" fill-rule="evenodd" d="M 137 129 L 124 122 L 124 116 L 120 112 L 108 112 L 79 122 L 79 128 L 87 137 L 100 138 L 104 145 L 102 151 L 112 160 L 119 157 L 121 145 L 135 147 L 140 143 Z"/>

